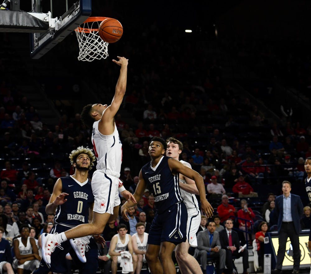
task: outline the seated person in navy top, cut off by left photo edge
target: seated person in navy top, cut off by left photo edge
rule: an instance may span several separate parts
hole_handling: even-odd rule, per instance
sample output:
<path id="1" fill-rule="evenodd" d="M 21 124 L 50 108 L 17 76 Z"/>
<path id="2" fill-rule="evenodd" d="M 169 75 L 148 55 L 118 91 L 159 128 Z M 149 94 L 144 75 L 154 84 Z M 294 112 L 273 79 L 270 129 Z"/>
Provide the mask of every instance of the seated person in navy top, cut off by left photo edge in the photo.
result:
<path id="1" fill-rule="evenodd" d="M 10 243 L 2 238 L 4 229 L 0 227 L 0 273 L 14 274 L 12 269 L 12 253 Z"/>

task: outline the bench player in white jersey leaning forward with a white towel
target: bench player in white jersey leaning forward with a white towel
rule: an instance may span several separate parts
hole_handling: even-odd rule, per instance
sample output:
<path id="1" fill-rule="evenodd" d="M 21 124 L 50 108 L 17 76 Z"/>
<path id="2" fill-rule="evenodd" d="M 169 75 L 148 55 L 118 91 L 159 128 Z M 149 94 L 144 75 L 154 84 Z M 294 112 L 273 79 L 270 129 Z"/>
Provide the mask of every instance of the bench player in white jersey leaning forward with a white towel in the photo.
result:
<path id="1" fill-rule="evenodd" d="M 130 234 L 127 234 L 127 229 L 125 224 L 119 224 L 117 228 L 118 234 L 114 235 L 110 241 L 109 246 L 109 255 L 111 257 L 111 273 L 116 274 L 118 269 L 118 263 L 121 263 L 121 252 L 128 249 L 128 252 L 132 256 L 133 266 L 132 270 L 134 271 L 137 265 L 137 256 L 133 255 L 133 245 L 132 237 Z M 118 246 L 117 246 L 118 243 Z M 135 267 L 135 268 L 134 268 Z"/>

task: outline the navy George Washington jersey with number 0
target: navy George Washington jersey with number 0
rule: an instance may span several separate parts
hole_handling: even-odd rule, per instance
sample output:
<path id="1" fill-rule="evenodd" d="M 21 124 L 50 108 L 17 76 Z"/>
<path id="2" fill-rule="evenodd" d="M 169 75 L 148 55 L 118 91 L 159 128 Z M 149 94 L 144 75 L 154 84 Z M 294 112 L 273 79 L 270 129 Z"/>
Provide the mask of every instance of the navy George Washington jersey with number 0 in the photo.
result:
<path id="1" fill-rule="evenodd" d="M 75 227 L 89 222 L 89 207 L 94 203 L 91 182 L 78 183 L 72 177 L 61 177 L 62 192 L 69 195 L 65 197 L 67 202 L 58 206 L 54 223 L 60 223 L 69 227 Z"/>

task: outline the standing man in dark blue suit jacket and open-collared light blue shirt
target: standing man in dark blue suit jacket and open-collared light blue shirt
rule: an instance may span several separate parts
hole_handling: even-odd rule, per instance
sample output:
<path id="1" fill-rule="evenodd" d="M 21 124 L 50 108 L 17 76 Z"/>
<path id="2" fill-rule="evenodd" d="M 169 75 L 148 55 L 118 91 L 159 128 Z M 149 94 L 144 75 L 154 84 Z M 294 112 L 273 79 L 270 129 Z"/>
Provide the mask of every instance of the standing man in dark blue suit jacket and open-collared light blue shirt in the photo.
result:
<path id="1" fill-rule="evenodd" d="M 294 269 L 293 274 L 299 273 L 300 249 L 299 232 L 301 230 L 300 218 L 304 212 L 303 205 L 298 195 L 291 194 L 291 184 L 282 183 L 283 195 L 276 197 L 275 208 L 270 214 L 270 220 L 277 220 L 279 232 L 279 248 L 277 250 L 276 269 L 272 273 L 281 273 L 286 251 L 287 238 L 290 238 L 293 247 Z"/>

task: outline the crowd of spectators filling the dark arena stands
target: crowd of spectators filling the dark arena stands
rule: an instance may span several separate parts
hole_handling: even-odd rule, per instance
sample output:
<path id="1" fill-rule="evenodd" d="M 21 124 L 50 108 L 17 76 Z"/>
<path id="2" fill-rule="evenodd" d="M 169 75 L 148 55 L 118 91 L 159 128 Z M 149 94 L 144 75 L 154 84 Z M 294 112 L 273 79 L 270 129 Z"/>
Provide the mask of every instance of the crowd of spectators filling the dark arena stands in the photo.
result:
<path id="1" fill-rule="evenodd" d="M 148 34 L 146 45 L 140 46 L 142 52 L 158 50 L 153 34 L 157 37 L 159 30 L 153 28 Z M 172 41 L 169 43 L 171 48 L 166 47 L 162 55 L 151 60 L 150 67 L 137 68 L 135 75 L 129 73 L 122 113 L 136 122 L 127 122 L 120 113 L 115 118 L 123 143 L 120 179 L 126 189 L 135 192 L 139 170 L 150 161 L 150 139 L 174 136 L 183 142 L 181 159 L 204 179 L 207 198 L 218 214 L 213 218 L 216 231 L 232 219 L 240 240 L 258 240 L 258 251 L 262 250 L 262 236 L 275 229 L 269 216 L 274 197 L 281 193 L 281 182 L 301 183 L 305 178 L 304 159 L 311 156 L 311 126 L 290 118 L 285 124 L 270 121 L 265 109 L 240 96 L 223 78 L 222 65 L 208 50 L 187 42 L 176 49 Z M 200 57 L 187 54 L 194 51 Z M 134 49 L 131 52 L 135 54 Z M 173 57 L 181 53 L 183 61 Z M 180 78 L 185 80 L 179 85 Z M 45 206 L 56 180 L 73 174 L 68 153 L 80 145 L 92 147 L 91 131 L 82 124 L 79 113 L 63 113 L 58 124 L 48 125 L 25 95 L 14 83 L 2 79 L 0 227 L 11 246 L 25 224 L 36 240 L 53 224 Z M 273 193 L 265 192 L 262 185 L 268 185 Z M 295 191 L 304 195 L 304 188 L 298 185 Z M 131 236 L 137 223 L 149 231 L 155 214 L 150 193 L 145 190 L 128 216 L 130 222 L 121 218 L 107 224 L 103 231 L 106 241 L 118 233 L 120 223 L 125 223 Z M 305 228 L 311 222 L 307 204 L 304 200 L 301 222 Z M 199 231 L 207 229 L 208 221 L 202 216 Z M 102 264 L 108 252 L 101 250 Z"/>

